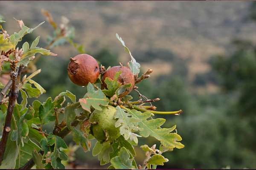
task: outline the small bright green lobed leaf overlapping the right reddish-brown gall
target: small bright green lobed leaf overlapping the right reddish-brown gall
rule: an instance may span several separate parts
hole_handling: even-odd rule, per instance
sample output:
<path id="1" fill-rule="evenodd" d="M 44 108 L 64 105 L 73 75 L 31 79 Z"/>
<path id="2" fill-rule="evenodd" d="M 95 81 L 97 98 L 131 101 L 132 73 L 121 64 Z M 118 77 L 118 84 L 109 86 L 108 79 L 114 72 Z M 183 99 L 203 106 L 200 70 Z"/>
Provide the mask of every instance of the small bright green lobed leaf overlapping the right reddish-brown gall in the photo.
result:
<path id="1" fill-rule="evenodd" d="M 110 79 L 109 77 L 105 79 L 104 82 L 106 83 L 108 89 L 102 90 L 102 92 L 106 96 L 112 97 L 115 94 L 116 90 L 121 86 L 121 83 L 117 81 L 120 74 L 122 74 L 122 71 L 116 72 L 114 79 Z"/>

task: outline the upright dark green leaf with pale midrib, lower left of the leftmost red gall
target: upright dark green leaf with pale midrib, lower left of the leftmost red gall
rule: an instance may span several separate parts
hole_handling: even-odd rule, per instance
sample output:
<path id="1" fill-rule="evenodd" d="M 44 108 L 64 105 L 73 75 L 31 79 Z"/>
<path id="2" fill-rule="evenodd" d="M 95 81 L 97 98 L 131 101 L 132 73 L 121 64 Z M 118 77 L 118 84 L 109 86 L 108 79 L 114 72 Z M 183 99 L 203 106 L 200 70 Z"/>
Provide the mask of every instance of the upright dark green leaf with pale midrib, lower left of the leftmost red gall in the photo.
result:
<path id="1" fill-rule="evenodd" d="M 55 121 L 54 103 L 52 102 L 51 97 L 49 97 L 43 103 L 43 105 L 39 107 L 38 116 L 42 124 L 47 124 L 49 122 Z"/>

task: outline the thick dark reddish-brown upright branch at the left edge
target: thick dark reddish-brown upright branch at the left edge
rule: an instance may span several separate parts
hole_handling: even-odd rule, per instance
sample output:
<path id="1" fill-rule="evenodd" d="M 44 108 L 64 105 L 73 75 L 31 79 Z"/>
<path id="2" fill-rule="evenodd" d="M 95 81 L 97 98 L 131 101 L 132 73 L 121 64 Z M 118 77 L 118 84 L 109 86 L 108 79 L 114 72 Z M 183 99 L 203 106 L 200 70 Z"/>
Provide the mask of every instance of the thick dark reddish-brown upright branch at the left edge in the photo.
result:
<path id="1" fill-rule="evenodd" d="M 5 120 L 5 124 L 3 127 L 3 135 L 2 135 L 2 139 L 0 142 L 0 164 L 3 161 L 3 155 L 6 149 L 6 144 L 7 144 L 7 139 L 8 139 L 8 135 L 11 131 L 11 121 L 12 121 L 12 113 L 13 113 L 13 108 L 15 106 L 15 101 L 18 97 L 18 90 L 17 90 L 17 83 L 20 79 L 20 73 L 22 71 L 24 67 L 20 66 L 18 71 L 12 71 L 11 72 L 11 78 L 12 78 L 12 88 L 10 90 L 11 92 L 11 96 L 9 97 L 9 105 L 7 108 L 7 113 L 6 113 L 6 120 Z"/>

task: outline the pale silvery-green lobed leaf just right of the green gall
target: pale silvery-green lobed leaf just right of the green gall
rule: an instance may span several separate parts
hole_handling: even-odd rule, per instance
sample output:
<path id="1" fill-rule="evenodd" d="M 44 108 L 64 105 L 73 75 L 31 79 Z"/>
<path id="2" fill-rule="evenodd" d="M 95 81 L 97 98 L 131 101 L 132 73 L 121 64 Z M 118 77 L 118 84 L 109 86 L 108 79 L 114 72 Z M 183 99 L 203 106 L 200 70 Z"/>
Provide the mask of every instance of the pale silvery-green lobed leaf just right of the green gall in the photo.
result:
<path id="1" fill-rule="evenodd" d="M 141 119 L 132 117 L 131 114 L 127 113 L 119 106 L 116 107 L 115 119 L 118 119 L 115 123 L 115 127 L 120 127 L 120 134 L 125 137 L 125 140 L 130 138 L 133 131 L 142 130 L 138 127 L 138 122 L 140 122 Z"/>

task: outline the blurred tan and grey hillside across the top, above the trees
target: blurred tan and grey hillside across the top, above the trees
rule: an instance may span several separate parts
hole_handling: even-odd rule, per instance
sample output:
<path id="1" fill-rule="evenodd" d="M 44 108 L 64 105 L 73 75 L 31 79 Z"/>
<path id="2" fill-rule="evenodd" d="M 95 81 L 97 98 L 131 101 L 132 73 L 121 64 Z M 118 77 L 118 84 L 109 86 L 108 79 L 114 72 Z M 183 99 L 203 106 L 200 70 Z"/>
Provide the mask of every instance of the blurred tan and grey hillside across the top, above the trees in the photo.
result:
<path id="1" fill-rule="evenodd" d="M 95 52 L 102 47 L 108 47 L 119 52 L 124 62 L 129 58 L 116 40 L 116 33 L 125 40 L 136 58 L 140 58 L 136 54 L 148 50 L 171 51 L 179 57 L 190 60 L 189 76 L 192 79 L 196 73 L 207 71 L 208 57 L 225 52 L 233 38 L 256 40 L 256 25 L 247 18 L 250 3 L 248 1 L 0 1 L 0 13 L 8 21 L 7 28 L 10 31 L 18 29 L 13 17 L 23 19 L 32 26 L 45 20 L 41 15 L 41 8 L 50 11 L 55 20 L 60 20 L 61 15 L 64 15 L 76 27 L 76 40 L 83 43 L 87 51 Z M 44 24 L 35 31 L 35 34 L 47 34 L 49 30 L 50 26 Z M 59 56 L 66 57 L 67 54 L 71 54 L 68 53 L 69 50 L 57 48 L 55 52 Z M 155 56 L 155 58 L 158 59 L 157 63 L 162 61 L 171 64 L 168 56 L 164 58 Z M 151 66 L 157 68 L 157 65 L 151 64 Z M 166 74 L 166 71 L 163 71 L 163 74 Z"/>

